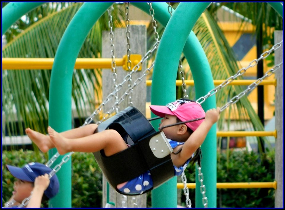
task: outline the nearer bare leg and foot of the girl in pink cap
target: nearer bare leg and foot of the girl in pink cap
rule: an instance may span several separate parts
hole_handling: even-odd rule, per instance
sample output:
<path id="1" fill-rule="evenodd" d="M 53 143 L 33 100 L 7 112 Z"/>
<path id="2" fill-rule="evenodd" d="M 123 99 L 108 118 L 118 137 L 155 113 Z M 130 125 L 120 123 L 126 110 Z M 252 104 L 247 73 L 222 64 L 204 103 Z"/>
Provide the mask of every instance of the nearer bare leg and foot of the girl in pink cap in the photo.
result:
<path id="1" fill-rule="evenodd" d="M 128 148 L 121 135 L 115 130 L 104 130 L 86 137 L 72 139 L 65 138 L 50 126 L 47 131 L 59 154 L 71 151 L 97 152 L 104 149 L 105 155 L 110 156 Z"/>

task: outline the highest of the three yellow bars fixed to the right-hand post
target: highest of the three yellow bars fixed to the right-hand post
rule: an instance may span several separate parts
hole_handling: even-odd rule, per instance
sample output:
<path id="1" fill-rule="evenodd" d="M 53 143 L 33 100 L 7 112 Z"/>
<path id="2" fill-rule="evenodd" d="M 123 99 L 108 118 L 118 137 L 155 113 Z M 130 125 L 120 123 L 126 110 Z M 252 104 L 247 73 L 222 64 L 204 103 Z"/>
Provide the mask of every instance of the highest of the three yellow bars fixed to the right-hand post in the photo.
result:
<path id="1" fill-rule="evenodd" d="M 225 80 L 214 80 L 214 85 L 220 85 Z M 251 83 L 255 82 L 256 80 L 233 80 L 228 85 L 250 85 Z M 186 85 L 193 86 L 194 80 L 184 80 Z M 146 85 L 151 86 L 151 80 L 146 80 Z M 176 86 L 181 86 L 182 80 L 176 80 Z M 276 86 L 276 79 L 273 80 L 263 80 L 259 85 L 274 85 Z"/>

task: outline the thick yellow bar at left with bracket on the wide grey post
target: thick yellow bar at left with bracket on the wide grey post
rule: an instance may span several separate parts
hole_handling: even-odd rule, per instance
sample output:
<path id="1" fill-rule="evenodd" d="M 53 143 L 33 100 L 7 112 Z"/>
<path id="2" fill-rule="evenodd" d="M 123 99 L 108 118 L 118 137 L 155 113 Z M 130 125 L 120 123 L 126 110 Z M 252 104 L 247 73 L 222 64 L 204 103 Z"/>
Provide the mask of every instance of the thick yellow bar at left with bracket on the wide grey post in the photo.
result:
<path id="1" fill-rule="evenodd" d="M 139 63 L 141 55 L 131 54 L 131 68 Z M 7 70 L 23 70 L 23 69 L 52 69 L 54 58 L 2 58 L 2 69 Z M 127 69 L 126 55 L 123 58 L 115 58 L 116 66 L 122 66 Z M 75 62 L 75 69 L 110 69 L 111 58 L 77 58 Z M 139 70 L 141 70 L 140 67 Z"/>

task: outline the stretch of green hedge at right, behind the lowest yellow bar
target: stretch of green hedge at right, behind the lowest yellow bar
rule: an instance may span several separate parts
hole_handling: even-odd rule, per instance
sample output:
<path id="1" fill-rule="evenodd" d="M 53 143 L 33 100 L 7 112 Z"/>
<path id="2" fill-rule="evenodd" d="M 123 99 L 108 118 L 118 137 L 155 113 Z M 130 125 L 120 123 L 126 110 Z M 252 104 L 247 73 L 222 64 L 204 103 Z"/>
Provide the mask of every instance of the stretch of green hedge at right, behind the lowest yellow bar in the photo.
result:
<path id="1" fill-rule="evenodd" d="M 218 153 L 217 182 L 273 182 L 274 155 L 274 152 L 267 153 L 261 162 L 254 152 L 230 151 L 228 160 L 226 153 Z M 188 165 L 185 174 L 187 182 L 195 182 L 195 166 Z M 185 196 L 181 193 L 185 206 Z M 189 189 L 189 197 L 195 207 L 195 189 Z M 217 189 L 217 208 L 274 208 L 274 189 Z"/>

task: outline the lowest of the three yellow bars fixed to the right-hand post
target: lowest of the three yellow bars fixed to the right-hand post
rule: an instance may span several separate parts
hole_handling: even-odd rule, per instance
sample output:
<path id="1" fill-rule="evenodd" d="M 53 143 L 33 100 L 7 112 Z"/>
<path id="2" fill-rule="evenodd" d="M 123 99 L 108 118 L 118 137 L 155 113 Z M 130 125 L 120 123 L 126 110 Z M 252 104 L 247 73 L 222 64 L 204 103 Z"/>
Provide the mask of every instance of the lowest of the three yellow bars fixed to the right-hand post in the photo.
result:
<path id="1" fill-rule="evenodd" d="M 195 189 L 196 183 L 187 183 L 187 187 L 189 189 Z M 177 183 L 178 189 L 184 188 L 184 183 Z M 277 189 L 277 181 L 273 182 L 224 182 L 224 183 L 217 183 L 217 188 L 274 188 Z"/>

